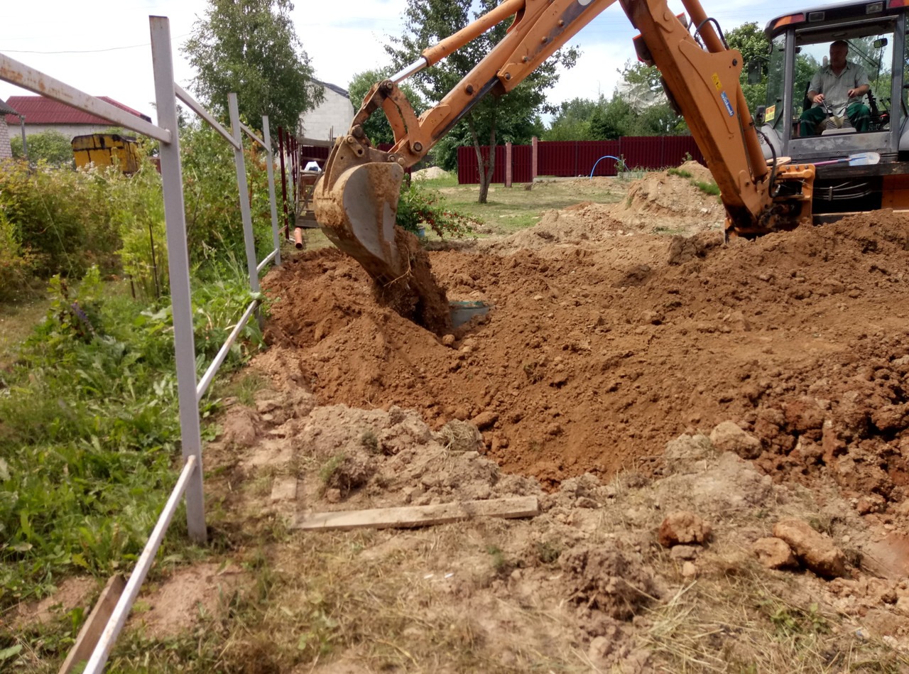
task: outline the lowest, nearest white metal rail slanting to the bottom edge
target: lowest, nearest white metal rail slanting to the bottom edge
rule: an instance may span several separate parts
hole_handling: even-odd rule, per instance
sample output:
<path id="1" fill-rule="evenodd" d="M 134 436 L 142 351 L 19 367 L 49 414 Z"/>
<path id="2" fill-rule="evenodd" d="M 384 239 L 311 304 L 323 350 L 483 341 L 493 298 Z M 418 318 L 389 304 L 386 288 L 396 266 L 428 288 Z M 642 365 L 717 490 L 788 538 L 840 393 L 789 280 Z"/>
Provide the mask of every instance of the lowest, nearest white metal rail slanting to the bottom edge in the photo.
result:
<path id="1" fill-rule="evenodd" d="M 152 562 L 155 561 L 155 555 L 158 552 L 158 548 L 161 547 L 161 541 L 165 538 L 165 531 L 167 530 L 167 527 L 170 526 L 171 519 L 174 518 L 176 507 L 179 505 L 180 498 L 183 498 L 184 492 L 186 491 L 186 483 L 189 481 L 195 468 L 195 456 L 186 458 L 186 463 L 184 464 L 183 471 L 180 473 L 180 478 L 176 481 L 170 498 L 167 499 L 165 509 L 161 511 L 161 516 L 158 518 L 157 524 L 155 524 L 155 529 L 152 531 L 151 537 L 148 538 L 148 542 L 145 543 L 142 555 L 135 563 L 133 573 L 126 582 L 123 594 L 120 595 L 120 599 L 116 602 L 114 612 L 111 614 L 110 619 L 107 620 L 105 631 L 102 632 L 101 639 L 98 639 L 98 644 L 92 652 L 92 657 L 88 659 L 88 664 L 85 665 L 83 674 L 100 674 L 105 668 L 107 655 L 114 646 L 116 638 L 120 634 L 120 630 L 123 629 L 123 626 L 125 625 L 126 618 L 129 616 L 129 611 L 133 608 L 135 598 L 139 594 L 139 588 L 142 587 L 145 576 L 148 575 L 148 569 L 152 568 Z"/>

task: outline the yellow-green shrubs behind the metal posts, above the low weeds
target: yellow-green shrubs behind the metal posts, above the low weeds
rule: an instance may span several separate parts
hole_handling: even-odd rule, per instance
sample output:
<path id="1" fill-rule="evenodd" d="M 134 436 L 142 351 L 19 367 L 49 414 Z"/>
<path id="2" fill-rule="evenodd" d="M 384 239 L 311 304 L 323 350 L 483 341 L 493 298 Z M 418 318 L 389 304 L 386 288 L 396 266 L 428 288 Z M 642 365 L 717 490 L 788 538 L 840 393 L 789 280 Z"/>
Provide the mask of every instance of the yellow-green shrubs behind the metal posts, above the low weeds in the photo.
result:
<path id="1" fill-rule="evenodd" d="M 154 148 L 140 139 L 140 152 L 149 154 Z M 182 130 L 181 148 L 190 262 L 196 277 L 216 279 L 225 273 L 224 259 L 245 261 L 234 151 L 215 131 L 201 126 Z M 265 153 L 247 140 L 245 154 L 261 259 L 272 248 Z M 161 176 L 150 163 L 125 176 L 115 167 L 76 171 L 42 161 L 29 171 L 25 162 L 5 162 L 0 166 L 0 210 L 18 242 L 0 253 L 0 265 L 8 263 L 0 271 L 0 292 L 11 286 L 12 278 L 29 273 L 45 279 L 55 274 L 78 278 L 96 265 L 103 276 L 128 274 L 143 297 L 165 294 Z M 14 235 L 6 231 L 0 236 Z"/>

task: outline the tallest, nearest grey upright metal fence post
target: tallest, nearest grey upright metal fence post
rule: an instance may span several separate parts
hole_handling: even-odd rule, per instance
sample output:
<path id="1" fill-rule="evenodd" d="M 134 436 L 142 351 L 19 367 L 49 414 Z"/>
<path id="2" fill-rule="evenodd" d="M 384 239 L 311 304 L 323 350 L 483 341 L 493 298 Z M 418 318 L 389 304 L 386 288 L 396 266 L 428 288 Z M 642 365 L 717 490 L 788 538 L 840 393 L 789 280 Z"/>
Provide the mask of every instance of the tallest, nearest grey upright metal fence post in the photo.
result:
<path id="1" fill-rule="evenodd" d="M 195 457 L 195 470 L 186 488 L 186 527 L 189 529 L 189 538 L 196 543 L 205 543 L 207 532 L 205 495 L 202 488 L 202 437 L 199 429 L 199 406 L 195 401 L 193 300 L 189 287 L 189 251 L 186 244 L 183 168 L 180 165 L 170 21 L 166 16 L 150 16 L 149 21 L 158 126 L 170 130 L 172 134 L 170 143 L 161 143 L 160 160 L 174 321 L 176 381 L 180 398 L 180 438 L 184 458 Z"/>

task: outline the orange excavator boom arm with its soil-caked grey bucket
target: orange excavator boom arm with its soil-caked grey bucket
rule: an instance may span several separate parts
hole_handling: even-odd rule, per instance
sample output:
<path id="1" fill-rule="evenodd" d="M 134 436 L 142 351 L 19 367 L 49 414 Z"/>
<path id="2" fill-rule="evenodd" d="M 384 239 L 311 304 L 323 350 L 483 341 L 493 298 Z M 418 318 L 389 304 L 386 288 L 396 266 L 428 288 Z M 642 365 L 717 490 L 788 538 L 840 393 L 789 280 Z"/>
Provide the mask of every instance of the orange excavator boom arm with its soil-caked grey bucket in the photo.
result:
<path id="1" fill-rule="evenodd" d="M 726 208 L 727 230 L 752 233 L 810 221 L 814 167 L 768 169 L 739 86 L 742 55 L 725 44 L 719 26 L 714 29 L 714 20 L 698 0 L 683 2 L 694 35 L 666 0 L 621 0 L 641 33 L 634 38 L 638 57 L 660 69 L 670 102 L 704 153 Z M 405 265 L 409 257 L 395 234 L 403 169 L 420 161 L 484 96 L 514 89 L 613 3 L 504 0 L 373 86 L 349 134 L 335 141 L 325 176 L 315 189 L 315 216 L 329 238 L 380 283 L 410 275 L 412 268 Z M 398 83 L 509 17 L 514 20 L 504 38 L 436 106 L 417 117 Z M 379 107 L 395 133 L 395 146 L 387 153 L 372 146 L 362 126 Z"/>

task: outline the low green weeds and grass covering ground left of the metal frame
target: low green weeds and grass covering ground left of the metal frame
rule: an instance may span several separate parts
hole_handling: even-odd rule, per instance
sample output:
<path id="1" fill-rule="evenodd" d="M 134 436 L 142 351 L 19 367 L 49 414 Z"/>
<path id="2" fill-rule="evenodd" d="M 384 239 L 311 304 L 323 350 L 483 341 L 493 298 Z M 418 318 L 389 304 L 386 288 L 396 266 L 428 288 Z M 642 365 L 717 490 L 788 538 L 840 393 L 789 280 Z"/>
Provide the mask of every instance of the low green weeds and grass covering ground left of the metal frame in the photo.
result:
<path id="1" fill-rule="evenodd" d="M 240 287 L 225 281 L 199 294 L 207 297 L 194 314 L 200 370 L 215 325 L 242 310 Z M 10 395 L 0 397 L 0 610 L 44 596 L 59 578 L 128 567 L 179 457 L 169 307 L 104 297 L 96 268 L 75 288 L 55 277 L 50 292 L 47 317 L 4 375 Z M 254 332 L 229 363 L 260 344 Z M 203 416 L 214 404 L 203 401 Z M 170 553 L 180 520 L 165 542 Z"/>

